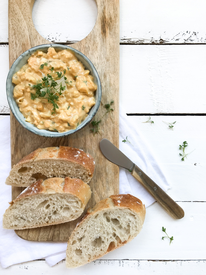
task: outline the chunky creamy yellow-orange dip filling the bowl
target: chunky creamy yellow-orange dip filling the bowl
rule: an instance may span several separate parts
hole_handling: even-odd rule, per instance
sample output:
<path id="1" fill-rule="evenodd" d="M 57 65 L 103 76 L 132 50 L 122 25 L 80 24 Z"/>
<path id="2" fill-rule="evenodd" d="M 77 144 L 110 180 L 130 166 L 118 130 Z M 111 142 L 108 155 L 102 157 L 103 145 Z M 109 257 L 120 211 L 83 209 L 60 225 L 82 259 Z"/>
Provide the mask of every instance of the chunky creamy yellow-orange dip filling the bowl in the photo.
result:
<path id="1" fill-rule="evenodd" d="M 57 72 L 61 73 L 61 77 Z M 58 106 L 55 110 L 54 105 L 48 102 L 47 93 L 44 97 L 35 98 L 37 88 L 34 86 L 38 83 L 44 85 L 44 78 L 49 80 L 48 87 L 43 87 L 41 92 L 49 91 L 58 96 L 58 100 L 54 101 Z M 55 89 L 50 87 L 51 79 L 56 81 Z M 56 52 L 54 48 L 49 48 L 47 53 L 35 52 L 28 63 L 13 75 L 12 82 L 16 84 L 14 98 L 20 112 L 26 121 L 38 129 L 58 132 L 76 129 L 95 105 L 97 86 L 94 79 L 71 50 Z"/>

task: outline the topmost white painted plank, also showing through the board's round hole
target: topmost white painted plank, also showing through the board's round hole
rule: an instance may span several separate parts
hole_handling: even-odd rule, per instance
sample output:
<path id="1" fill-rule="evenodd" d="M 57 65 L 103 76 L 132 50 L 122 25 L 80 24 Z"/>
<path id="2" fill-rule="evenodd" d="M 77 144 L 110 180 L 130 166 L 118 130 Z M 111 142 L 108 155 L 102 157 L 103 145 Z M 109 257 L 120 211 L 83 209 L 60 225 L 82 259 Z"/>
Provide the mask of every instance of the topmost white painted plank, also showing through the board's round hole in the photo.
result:
<path id="1" fill-rule="evenodd" d="M 95 1 L 61 0 L 58 3 L 35 1 L 33 20 L 37 31 L 52 42 L 78 41 L 88 35 L 96 21 Z M 120 42 L 205 43 L 205 8 L 202 0 L 120 0 Z M 74 10 L 77 13 L 71 12 Z M 0 42 L 8 42 L 7 0 L 0 2 L 0 18 Z"/>

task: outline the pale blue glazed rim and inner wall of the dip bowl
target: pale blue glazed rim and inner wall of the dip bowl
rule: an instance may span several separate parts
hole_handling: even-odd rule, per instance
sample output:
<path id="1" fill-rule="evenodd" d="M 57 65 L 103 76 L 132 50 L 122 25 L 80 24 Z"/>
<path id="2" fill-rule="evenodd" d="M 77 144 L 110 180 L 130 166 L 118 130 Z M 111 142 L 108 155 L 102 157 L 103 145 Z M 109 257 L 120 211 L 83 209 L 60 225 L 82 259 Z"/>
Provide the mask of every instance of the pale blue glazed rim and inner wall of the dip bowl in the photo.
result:
<path id="1" fill-rule="evenodd" d="M 52 132 L 50 130 L 45 130 L 45 129 L 38 129 L 36 126 L 34 126 L 33 124 L 30 124 L 29 122 L 26 122 L 25 121 L 25 118 L 23 117 L 23 121 L 22 119 L 19 118 L 19 115 L 18 113 L 20 113 L 20 115 L 22 115 L 22 113 L 20 112 L 19 110 L 19 107 L 17 108 L 17 111 L 14 109 L 14 106 L 13 106 L 13 103 L 12 103 L 12 97 L 13 97 L 13 90 L 12 92 L 10 91 L 10 81 L 12 81 L 12 76 L 13 74 L 15 73 L 15 66 L 18 64 L 19 60 L 22 59 L 22 56 L 25 56 L 25 55 L 31 55 L 30 51 L 32 50 L 32 53 L 35 52 L 35 49 L 36 50 L 41 50 L 41 48 L 49 48 L 49 47 L 53 47 L 53 48 L 61 48 L 61 49 L 70 49 L 71 51 L 75 52 L 75 54 L 77 55 L 80 55 L 83 57 L 83 59 L 86 60 L 86 62 L 91 66 L 91 68 L 93 69 L 93 72 L 91 73 L 91 75 L 94 77 L 94 79 L 96 78 L 96 83 L 97 86 L 98 86 L 98 100 L 96 99 L 95 101 L 95 105 L 91 107 L 90 111 L 93 111 L 92 115 L 88 118 L 86 117 L 81 123 L 79 126 L 77 126 L 76 129 L 71 129 L 67 132 L 62 132 L 62 133 L 59 133 L 59 132 Z M 43 49 L 44 51 L 44 49 Z M 29 57 L 28 57 L 29 58 Z M 85 66 L 85 64 L 83 63 L 83 65 Z M 85 66 L 86 67 L 86 66 Z M 96 91 L 96 93 L 97 93 Z M 38 45 L 38 46 L 35 46 L 35 47 L 32 47 L 31 49 L 28 49 L 27 51 L 23 52 L 16 60 L 15 62 L 12 64 L 9 72 L 8 72 L 8 76 L 7 76 L 7 80 L 6 80 L 6 94 L 7 94 L 7 100 L 8 100 L 8 104 L 9 104 L 9 107 L 13 113 L 13 115 L 15 116 L 15 119 L 25 128 L 27 129 L 28 131 L 38 135 L 38 136 L 44 136 L 44 137 L 64 137 L 64 136 L 68 136 L 68 135 L 71 135 L 73 133 L 76 133 L 78 132 L 79 130 L 81 130 L 82 128 L 84 128 L 86 125 L 88 125 L 89 122 L 91 122 L 91 120 L 93 119 L 93 117 L 96 115 L 98 109 L 99 109 L 99 106 L 100 106 L 100 103 L 101 103 L 101 82 L 100 82 L 100 79 L 99 79 L 99 75 L 98 75 L 98 72 L 97 70 L 95 69 L 95 66 L 92 64 L 92 62 L 88 59 L 87 56 L 85 56 L 82 52 L 68 46 L 68 45 L 62 45 L 62 44 L 42 44 L 42 45 Z M 14 101 L 14 100 L 13 100 Z M 16 102 L 15 102 L 16 104 Z M 18 106 L 18 105 L 17 105 Z M 23 116 L 23 115 L 22 115 Z M 88 118 L 88 119 L 87 119 Z M 30 126 L 30 127 L 29 127 Z"/>

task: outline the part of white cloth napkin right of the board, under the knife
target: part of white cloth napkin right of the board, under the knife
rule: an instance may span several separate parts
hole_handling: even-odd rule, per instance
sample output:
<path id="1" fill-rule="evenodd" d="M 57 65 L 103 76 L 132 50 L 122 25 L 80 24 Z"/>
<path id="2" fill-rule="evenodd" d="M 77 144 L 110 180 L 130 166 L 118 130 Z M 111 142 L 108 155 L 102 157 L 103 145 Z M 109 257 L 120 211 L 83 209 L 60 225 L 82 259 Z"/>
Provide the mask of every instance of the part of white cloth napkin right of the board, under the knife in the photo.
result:
<path id="1" fill-rule="evenodd" d="M 123 143 L 122 140 L 125 140 L 127 136 L 130 143 Z M 171 188 L 152 153 L 152 149 L 144 141 L 144 137 L 137 127 L 131 123 L 131 117 L 125 113 L 119 115 L 119 149 L 164 191 Z M 155 202 L 155 199 L 131 176 L 131 173 L 121 167 L 119 168 L 119 193 L 129 193 L 138 197 L 145 204 L 145 207 Z"/>

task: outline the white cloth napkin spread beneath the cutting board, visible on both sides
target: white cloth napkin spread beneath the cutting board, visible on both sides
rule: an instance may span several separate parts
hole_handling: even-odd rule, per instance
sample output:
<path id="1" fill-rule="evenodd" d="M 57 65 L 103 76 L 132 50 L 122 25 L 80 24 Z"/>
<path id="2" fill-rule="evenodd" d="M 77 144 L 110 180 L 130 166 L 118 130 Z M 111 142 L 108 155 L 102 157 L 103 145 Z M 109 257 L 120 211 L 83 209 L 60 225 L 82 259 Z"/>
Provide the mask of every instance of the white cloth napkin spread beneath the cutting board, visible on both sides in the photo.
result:
<path id="1" fill-rule="evenodd" d="M 131 125 L 130 118 L 126 114 L 120 114 L 119 121 L 120 150 L 136 163 L 159 186 L 167 191 L 170 186 L 156 162 L 148 145 L 140 136 L 136 126 Z M 123 143 L 128 136 L 130 143 Z M 11 186 L 5 185 L 5 179 L 11 169 L 10 157 L 10 117 L 6 116 L 0 121 L 0 263 L 3 268 L 16 263 L 45 258 L 49 266 L 53 266 L 65 258 L 67 243 L 32 242 L 22 240 L 14 230 L 2 228 L 2 216 L 8 208 L 8 202 L 12 200 Z M 137 196 L 145 206 L 149 206 L 155 200 L 129 173 L 120 168 L 120 194 L 130 193 Z"/>

